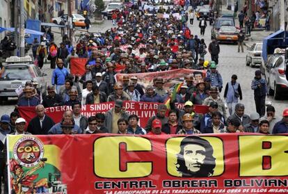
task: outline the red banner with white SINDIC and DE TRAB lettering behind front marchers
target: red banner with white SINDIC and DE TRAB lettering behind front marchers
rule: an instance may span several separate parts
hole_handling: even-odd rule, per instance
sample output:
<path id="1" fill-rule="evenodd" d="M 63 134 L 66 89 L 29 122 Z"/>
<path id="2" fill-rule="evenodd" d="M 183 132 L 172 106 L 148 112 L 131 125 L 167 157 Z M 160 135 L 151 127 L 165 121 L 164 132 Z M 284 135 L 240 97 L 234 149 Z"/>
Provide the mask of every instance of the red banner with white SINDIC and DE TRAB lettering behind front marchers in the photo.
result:
<path id="1" fill-rule="evenodd" d="M 147 121 L 152 116 L 156 115 L 159 103 L 151 102 L 125 102 L 123 107 L 125 107 L 127 113 L 136 114 L 140 118 L 141 127 L 145 127 Z M 96 113 L 106 113 L 114 107 L 114 102 L 105 102 L 101 104 L 88 104 L 81 107 L 81 114 L 90 117 Z M 177 104 L 177 108 L 183 108 L 183 104 Z M 35 107 L 24 107 L 20 106 L 18 108 L 19 114 L 27 122 L 30 122 L 32 118 L 36 116 Z M 45 108 L 46 114 L 51 117 L 54 122 L 61 122 L 63 118 L 63 113 L 65 111 L 71 110 L 70 106 L 56 106 Z M 208 111 L 208 106 L 195 105 L 195 112 L 205 114 Z"/>

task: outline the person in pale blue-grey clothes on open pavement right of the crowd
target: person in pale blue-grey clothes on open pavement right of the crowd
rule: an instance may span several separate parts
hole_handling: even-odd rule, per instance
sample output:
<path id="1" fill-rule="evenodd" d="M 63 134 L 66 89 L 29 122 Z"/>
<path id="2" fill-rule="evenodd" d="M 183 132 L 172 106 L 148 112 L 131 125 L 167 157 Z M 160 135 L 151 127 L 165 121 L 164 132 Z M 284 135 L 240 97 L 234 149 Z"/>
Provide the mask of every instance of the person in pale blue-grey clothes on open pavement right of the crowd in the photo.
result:
<path id="1" fill-rule="evenodd" d="M 224 99 L 226 100 L 230 115 L 234 114 L 238 100 L 242 100 L 242 91 L 240 83 L 237 82 L 236 74 L 232 75 L 231 81 L 227 82 L 225 86 Z"/>

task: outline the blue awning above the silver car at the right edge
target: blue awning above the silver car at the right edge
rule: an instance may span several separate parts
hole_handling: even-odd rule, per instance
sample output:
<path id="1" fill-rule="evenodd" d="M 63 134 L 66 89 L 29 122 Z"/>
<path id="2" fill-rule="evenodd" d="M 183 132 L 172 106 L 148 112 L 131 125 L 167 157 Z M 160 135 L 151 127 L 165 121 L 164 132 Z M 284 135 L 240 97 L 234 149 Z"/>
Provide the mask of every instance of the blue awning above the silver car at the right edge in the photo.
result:
<path id="1" fill-rule="evenodd" d="M 276 48 L 285 49 L 288 47 L 288 32 L 287 31 L 277 31 L 267 36 L 263 40 L 262 47 L 262 58 L 266 63 L 268 60 L 268 55 L 273 54 Z"/>

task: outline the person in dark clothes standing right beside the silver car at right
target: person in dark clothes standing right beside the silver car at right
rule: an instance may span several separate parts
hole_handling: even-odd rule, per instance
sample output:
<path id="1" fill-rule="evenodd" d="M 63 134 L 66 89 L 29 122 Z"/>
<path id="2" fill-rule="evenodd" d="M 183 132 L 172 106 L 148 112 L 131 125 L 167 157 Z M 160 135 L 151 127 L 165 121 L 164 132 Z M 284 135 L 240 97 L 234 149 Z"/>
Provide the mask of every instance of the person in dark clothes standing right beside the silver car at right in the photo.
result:
<path id="1" fill-rule="evenodd" d="M 260 117 L 265 115 L 265 99 L 268 92 L 266 80 L 262 78 L 261 71 L 255 72 L 255 77 L 251 83 L 251 89 L 254 90 L 254 100 L 256 105 L 256 112 Z"/>

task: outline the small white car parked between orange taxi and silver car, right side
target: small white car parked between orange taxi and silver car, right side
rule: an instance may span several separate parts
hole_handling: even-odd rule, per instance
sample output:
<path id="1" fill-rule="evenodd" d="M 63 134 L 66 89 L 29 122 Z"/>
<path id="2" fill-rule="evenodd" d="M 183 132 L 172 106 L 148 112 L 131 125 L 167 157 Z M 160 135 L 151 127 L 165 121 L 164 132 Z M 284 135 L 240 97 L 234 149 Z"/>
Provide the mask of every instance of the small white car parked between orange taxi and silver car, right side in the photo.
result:
<path id="1" fill-rule="evenodd" d="M 248 48 L 248 54 L 246 55 L 246 65 L 255 67 L 262 64 L 262 42 L 254 43 Z"/>

